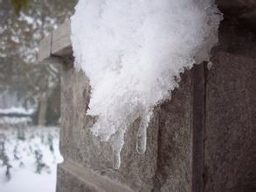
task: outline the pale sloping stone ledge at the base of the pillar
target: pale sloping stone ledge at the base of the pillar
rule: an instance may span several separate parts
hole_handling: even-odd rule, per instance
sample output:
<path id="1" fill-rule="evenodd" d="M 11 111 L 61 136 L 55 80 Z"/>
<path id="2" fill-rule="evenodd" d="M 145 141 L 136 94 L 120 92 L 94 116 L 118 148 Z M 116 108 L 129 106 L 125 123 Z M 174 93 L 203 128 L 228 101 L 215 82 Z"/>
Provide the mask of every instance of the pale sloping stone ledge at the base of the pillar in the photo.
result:
<path id="1" fill-rule="evenodd" d="M 83 190 L 81 191 L 111 191 L 111 192 L 131 192 L 132 190 L 122 186 L 119 183 L 115 183 L 113 181 L 110 181 L 107 179 L 107 177 L 103 177 L 101 175 L 97 175 L 93 173 L 91 170 L 82 168 L 78 166 L 76 163 L 72 161 L 65 161 L 64 163 L 59 165 L 59 169 L 62 169 L 66 172 L 65 175 L 70 175 L 74 177 L 76 180 L 79 180 L 79 182 L 83 183 L 84 186 Z M 61 175 L 58 177 L 58 182 L 63 183 L 65 181 L 62 181 L 63 178 Z M 68 183 L 67 183 L 68 184 Z M 72 186 L 68 184 L 69 186 Z M 80 185 L 77 185 L 80 186 Z M 85 188 L 87 190 L 85 190 Z M 88 190 L 90 189 L 90 190 Z M 57 188 L 57 191 L 70 191 L 69 189 L 63 189 L 63 185 L 59 186 Z"/>

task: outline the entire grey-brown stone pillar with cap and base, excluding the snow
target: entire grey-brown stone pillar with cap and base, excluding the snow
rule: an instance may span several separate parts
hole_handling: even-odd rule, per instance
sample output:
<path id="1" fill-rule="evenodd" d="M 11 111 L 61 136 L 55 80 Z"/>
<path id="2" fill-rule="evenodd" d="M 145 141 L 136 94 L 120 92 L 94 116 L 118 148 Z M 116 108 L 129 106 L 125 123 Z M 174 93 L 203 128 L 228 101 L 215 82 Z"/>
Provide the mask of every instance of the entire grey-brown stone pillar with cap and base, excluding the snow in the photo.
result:
<path id="1" fill-rule="evenodd" d="M 42 63 L 63 65 L 58 192 L 256 190 L 256 36 L 253 1 L 217 1 L 225 13 L 212 65 L 195 65 L 154 111 L 147 151 L 128 129 L 121 168 L 90 132 L 89 80 L 73 69 L 69 22 L 41 44 Z"/>

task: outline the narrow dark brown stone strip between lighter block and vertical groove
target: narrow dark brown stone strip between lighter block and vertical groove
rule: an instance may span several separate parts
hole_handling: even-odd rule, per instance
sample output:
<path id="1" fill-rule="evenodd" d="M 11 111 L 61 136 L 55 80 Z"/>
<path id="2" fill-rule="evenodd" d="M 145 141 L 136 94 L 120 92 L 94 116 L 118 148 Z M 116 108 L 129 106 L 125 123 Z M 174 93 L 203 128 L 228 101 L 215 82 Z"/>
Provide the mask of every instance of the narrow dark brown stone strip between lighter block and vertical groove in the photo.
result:
<path id="1" fill-rule="evenodd" d="M 191 72 L 184 72 L 172 98 L 156 110 L 159 133 L 154 191 L 182 192 L 191 188 L 191 76 Z"/>

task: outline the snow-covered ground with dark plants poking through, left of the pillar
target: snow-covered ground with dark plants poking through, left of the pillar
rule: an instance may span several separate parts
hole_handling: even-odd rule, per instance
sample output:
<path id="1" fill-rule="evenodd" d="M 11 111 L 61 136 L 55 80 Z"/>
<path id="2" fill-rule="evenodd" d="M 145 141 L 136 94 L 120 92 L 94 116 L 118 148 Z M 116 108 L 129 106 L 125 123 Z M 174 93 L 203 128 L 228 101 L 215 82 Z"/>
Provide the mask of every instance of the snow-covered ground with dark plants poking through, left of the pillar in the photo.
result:
<path id="1" fill-rule="evenodd" d="M 54 192 L 61 161 L 58 127 L 0 124 L 1 192 Z"/>

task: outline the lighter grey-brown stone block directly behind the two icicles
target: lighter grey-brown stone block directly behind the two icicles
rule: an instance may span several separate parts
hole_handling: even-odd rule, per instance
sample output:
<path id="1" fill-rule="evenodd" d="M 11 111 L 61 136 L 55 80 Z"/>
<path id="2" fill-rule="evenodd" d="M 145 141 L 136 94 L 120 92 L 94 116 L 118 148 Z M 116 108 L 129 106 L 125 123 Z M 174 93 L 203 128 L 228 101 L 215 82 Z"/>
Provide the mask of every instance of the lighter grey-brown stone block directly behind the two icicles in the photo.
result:
<path id="1" fill-rule="evenodd" d="M 148 150 L 144 156 L 135 153 L 135 126 L 127 133 L 121 153 L 121 168 L 113 169 L 112 148 L 93 136 L 90 127 L 95 118 L 86 115 L 89 101 L 89 82 L 83 72 L 73 69 L 63 72 L 65 88 L 62 89 L 62 134 L 60 142 L 65 160 L 71 159 L 100 175 L 126 183 L 132 189 L 151 189 L 156 168 L 157 129 L 149 132 Z M 136 124 L 136 122 L 135 122 Z M 154 152 L 155 151 L 155 152 Z"/>

